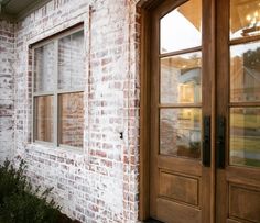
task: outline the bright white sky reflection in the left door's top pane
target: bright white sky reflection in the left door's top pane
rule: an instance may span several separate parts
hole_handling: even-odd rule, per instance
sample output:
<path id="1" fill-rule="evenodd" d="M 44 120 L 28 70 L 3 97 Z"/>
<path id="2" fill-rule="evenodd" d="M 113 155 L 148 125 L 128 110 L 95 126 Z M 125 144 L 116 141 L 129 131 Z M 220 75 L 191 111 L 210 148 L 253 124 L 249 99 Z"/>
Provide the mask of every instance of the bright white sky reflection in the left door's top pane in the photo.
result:
<path id="1" fill-rule="evenodd" d="M 201 31 L 177 10 L 161 19 L 161 53 L 191 48 L 201 44 Z"/>

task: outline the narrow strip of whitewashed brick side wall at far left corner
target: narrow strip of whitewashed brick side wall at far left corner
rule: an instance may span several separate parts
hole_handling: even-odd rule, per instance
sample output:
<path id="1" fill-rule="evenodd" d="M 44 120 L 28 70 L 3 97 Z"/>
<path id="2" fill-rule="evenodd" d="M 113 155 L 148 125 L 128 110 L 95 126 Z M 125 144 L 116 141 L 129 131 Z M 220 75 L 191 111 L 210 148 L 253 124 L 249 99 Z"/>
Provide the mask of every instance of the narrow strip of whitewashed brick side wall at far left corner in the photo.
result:
<path id="1" fill-rule="evenodd" d="M 14 25 L 0 20 L 0 164 L 13 153 Z"/>

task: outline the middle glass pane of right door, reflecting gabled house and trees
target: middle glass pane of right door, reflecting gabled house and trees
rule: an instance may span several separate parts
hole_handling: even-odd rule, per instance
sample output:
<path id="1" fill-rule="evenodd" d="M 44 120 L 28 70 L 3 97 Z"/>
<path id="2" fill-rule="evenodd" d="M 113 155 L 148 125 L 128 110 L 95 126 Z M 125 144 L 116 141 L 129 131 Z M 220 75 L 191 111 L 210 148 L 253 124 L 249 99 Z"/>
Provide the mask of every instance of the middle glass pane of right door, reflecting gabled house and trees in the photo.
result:
<path id="1" fill-rule="evenodd" d="M 230 101 L 260 101 L 260 43 L 230 47 Z"/>

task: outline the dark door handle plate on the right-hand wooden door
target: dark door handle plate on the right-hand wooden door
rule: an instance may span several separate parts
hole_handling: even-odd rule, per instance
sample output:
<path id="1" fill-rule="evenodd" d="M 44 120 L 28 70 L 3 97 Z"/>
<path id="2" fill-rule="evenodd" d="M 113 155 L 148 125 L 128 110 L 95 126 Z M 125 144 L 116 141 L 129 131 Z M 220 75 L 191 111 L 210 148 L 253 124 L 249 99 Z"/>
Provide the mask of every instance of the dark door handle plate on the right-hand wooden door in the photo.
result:
<path id="1" fill-rule="evenodd" d="M 217 119 L 217 167 L 225 169 L 225 134 L 226 134 L 226 121 L 224 116 Z"/>

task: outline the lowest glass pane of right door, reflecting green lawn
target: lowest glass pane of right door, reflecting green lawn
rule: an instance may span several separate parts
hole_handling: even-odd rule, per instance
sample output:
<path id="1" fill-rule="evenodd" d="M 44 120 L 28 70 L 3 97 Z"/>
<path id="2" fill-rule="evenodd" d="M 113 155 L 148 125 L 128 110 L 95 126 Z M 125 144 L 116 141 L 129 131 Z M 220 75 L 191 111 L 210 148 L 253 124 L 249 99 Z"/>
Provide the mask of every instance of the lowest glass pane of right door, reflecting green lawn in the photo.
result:
<path id="1" fill-rule="evenodd" d="M 230 164 L 260 167 L 260 108 L 230 109 Z"/>

